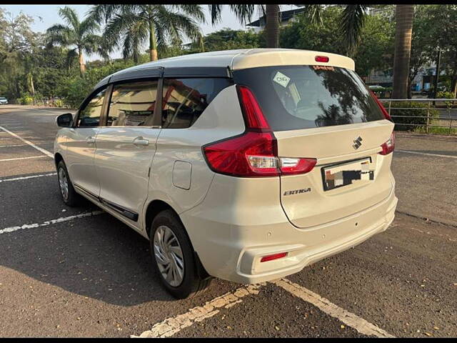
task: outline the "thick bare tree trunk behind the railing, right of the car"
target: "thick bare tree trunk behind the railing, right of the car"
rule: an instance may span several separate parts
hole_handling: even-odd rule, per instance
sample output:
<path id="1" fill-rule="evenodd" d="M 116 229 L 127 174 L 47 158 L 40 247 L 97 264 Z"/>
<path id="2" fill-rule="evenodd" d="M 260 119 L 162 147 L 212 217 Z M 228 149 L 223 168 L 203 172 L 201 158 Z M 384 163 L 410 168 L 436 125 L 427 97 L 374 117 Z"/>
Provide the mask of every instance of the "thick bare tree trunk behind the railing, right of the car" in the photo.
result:
<path id="1" fill-rule="evenodd" d="M 393 99 L 408 95 L 409 58 L 413 33 L 414 5 L 396 5 L 395 54 L 393 55 Z"/>

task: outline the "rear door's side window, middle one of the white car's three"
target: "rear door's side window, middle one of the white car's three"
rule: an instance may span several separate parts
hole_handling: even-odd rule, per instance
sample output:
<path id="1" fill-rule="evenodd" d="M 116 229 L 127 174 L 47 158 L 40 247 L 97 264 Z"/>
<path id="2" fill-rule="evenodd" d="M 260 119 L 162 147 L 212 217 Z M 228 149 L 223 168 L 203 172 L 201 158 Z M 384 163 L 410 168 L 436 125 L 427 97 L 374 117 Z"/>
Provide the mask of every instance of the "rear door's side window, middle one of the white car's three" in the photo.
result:
<path id="1" fill-rule="evenodd" d="M 151 126 L 157 81 L 115 84 L 109 101 L 107 126 Z"/>

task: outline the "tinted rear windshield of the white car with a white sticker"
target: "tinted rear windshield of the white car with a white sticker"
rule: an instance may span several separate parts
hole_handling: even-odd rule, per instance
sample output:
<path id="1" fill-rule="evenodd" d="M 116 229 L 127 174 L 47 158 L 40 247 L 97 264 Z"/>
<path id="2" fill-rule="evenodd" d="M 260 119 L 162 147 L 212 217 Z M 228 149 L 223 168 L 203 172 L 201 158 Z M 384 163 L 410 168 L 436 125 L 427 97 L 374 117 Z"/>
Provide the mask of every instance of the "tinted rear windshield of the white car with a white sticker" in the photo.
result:
<path id="1" fill-rule="evenodd" d="M 384 119 L 358 75 L 336 66 L 266 66 L 233 72 L 256 96 L 271 129 L 284 131 Z"/>

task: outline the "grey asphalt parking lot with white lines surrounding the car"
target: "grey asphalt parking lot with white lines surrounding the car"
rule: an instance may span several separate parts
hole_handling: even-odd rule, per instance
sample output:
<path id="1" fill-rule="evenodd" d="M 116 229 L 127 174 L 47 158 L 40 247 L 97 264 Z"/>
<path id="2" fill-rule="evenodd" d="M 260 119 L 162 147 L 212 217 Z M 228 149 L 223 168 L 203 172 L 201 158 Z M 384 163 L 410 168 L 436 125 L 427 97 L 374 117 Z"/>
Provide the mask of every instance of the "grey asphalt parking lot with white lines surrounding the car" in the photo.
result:
<path id="1" fill-rule="evenodd" d="M 176 301 L 145 239 L 61 202 L 42 150 L 60 113 L 0 107 L 0 337 L 457 336 L 457 139 L 398 135 L 386 232 L 287 279 Z"/>

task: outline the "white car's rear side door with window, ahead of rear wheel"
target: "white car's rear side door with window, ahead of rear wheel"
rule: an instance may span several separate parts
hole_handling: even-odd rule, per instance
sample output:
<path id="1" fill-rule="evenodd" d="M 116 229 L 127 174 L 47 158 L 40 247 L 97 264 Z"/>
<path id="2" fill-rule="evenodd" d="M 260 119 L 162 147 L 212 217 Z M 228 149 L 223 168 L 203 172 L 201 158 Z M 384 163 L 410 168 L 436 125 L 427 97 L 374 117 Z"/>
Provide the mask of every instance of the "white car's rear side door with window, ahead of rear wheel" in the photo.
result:
<path id="1" fill-rule="evenodd" d="M 159 126 L 153 126 L 158 79 L 113 85 L 106 124 L 96 138 L 101 202 L 140 227 Z"/>

